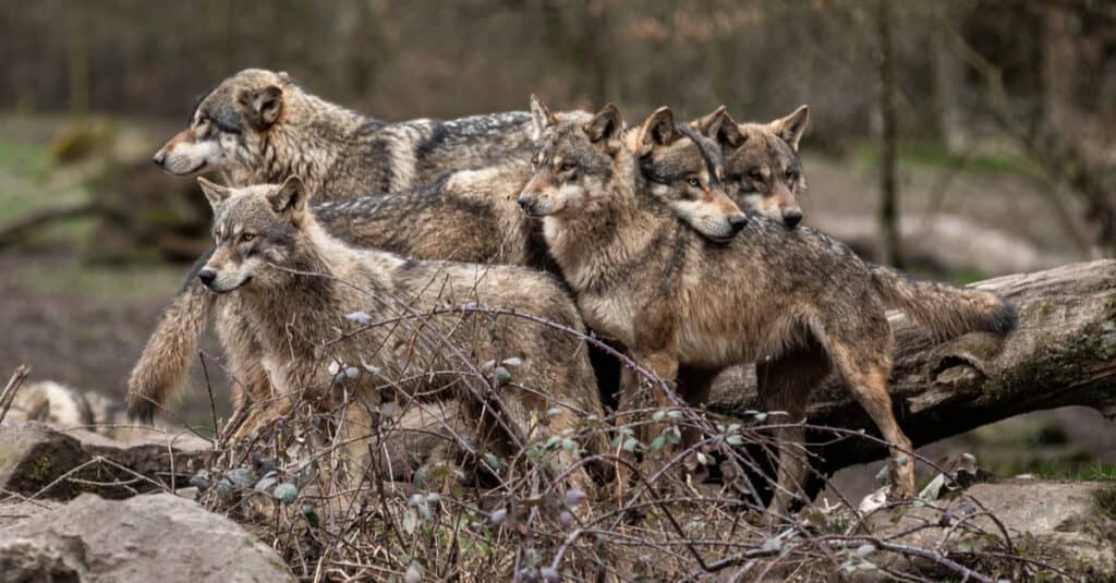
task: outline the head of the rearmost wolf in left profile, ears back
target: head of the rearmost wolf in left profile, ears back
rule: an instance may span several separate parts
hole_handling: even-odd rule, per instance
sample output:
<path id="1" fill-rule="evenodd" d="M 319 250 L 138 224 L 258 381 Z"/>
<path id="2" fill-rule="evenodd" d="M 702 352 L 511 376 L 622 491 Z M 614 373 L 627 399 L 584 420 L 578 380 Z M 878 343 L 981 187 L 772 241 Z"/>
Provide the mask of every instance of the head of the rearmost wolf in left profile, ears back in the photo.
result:
<path id="1" fill-rule="evenodd" d="M 229 77 L 199 98 L 189 126 L 155 153 L 155 164 L 180 176 L 250 171 L 295 88 L 286 73 L 244 69 Z"/>

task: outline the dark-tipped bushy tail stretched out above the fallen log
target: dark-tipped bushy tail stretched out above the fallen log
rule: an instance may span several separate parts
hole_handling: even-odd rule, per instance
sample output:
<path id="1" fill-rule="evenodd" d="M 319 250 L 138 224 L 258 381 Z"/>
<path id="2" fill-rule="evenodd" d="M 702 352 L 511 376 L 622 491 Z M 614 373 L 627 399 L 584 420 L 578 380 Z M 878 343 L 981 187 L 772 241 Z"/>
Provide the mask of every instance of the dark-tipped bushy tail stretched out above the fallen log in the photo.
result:
<path id="1" fill-rule="evenodd" d="M 868 268 L 887 307 L 902 309 L 940 338 L 1016 329 L 1014 306 L 991 292 L 924 281 L 879 265 L 869 264 Z"/>

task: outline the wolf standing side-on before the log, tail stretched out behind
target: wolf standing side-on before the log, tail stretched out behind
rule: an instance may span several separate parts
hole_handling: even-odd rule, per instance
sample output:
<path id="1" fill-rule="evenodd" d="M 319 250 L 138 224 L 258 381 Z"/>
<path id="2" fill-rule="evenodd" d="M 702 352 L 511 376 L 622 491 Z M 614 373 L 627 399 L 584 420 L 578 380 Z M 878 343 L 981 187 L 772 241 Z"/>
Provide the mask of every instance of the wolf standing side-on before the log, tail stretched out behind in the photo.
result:
<path id="1" fill-rule="evenodd" d="M 656 112 L 638 131 L 651 136 L 653 150 L 663 143 L 648 128 L 660 126 L 663 115 Z M 520 203 L 542 218 L 547 243 L 586 324 L 667 381 L 680 366 L 711 379 L 727 366 L 766 362 L 761 400 L 795 420 L 805 417 L 811 389 L 835 371 L 895 446 L 893 491 L 912 496 L 911 442 L 887 394 L 893 337 L 885 308 L 901 307 L 952 336 L 1007 333 L 1016 322 L 1011 306 L 988 292 L 915 281 L 869 266 L 825 235 L 762 218 L 727 243 L 710 242 L 651 195 L 654 185 L 620 145 L 623 122 L 615 106 L 591 120 L 545 120 L 537 172 Z M 679 390 L 700 403 L 708 382 Z M 655 392 L 670 407 L 666 395 Z M 780 433 L 790 442 L 804 439 L 800 429 Z M 781 449 L 775 512 L 787 507 L 807 469 Z"/>

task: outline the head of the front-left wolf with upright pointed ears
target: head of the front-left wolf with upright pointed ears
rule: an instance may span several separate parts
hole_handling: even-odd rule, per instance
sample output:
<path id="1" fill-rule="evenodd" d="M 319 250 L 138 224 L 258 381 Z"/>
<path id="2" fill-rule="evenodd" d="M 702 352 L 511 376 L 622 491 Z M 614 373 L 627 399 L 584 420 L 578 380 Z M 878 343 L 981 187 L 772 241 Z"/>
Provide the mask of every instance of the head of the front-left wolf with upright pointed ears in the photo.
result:
<path id="1" fill-rule="evenodd" d="M 214 216 L 215 249 L 198 273 L 202 284 L 223 294 L 241 287 L 273 286 L 287 276 L 273 266 L 298 262 L 299 242 L 312 221 L 302 181 L 290 176 L 281 185 L 243 189 L 219 187 L 203 178 L 198 183 Z"/>

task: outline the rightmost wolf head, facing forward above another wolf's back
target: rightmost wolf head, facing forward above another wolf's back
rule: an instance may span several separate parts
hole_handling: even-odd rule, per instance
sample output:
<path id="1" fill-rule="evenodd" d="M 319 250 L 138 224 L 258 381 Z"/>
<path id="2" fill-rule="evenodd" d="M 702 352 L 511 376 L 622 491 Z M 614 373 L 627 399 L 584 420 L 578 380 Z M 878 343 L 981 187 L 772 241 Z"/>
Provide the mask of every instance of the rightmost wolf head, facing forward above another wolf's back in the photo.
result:
<path id="1" fill-rule="evenodd" d="M 798 197 L 806 191 L 798 142 L 809 122 L 805 105 L 767 124 L 738 124 L 721 106 L 690 125 L 721 145 L 729 197 L 740 208 L 793 229 L 802 220 Z"/>

